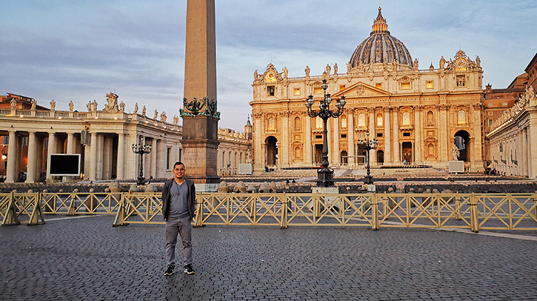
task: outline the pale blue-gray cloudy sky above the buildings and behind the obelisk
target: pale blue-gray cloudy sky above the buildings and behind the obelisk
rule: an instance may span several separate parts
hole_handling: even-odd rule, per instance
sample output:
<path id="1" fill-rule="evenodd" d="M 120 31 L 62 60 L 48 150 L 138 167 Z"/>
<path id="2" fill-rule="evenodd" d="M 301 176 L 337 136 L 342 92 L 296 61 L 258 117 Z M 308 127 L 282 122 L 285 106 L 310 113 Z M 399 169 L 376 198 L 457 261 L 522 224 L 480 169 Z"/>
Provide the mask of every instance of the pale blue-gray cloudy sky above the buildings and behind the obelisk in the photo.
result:
<path id="1" fill-rule="evenodd" d="M 10 0 L 0 5 L 0 95 L 85 111 L 115 92 L 134 111 L 179 115 L 185 74 L 186 0 Z M 420 69 L 459 49 L 481 58 L 483 83 L 507 87 L 537 52 L 537 1 L 381 1 L 392 36 Z M 378 1 L 215 0 L 220 127 L 243 131 L 253 72 L 289 77 L 344 67 L 371 32 Z M 339 68 L 345 69 L 345 68 Z M 148 113 L 152 117 L 152 113 Z"/>

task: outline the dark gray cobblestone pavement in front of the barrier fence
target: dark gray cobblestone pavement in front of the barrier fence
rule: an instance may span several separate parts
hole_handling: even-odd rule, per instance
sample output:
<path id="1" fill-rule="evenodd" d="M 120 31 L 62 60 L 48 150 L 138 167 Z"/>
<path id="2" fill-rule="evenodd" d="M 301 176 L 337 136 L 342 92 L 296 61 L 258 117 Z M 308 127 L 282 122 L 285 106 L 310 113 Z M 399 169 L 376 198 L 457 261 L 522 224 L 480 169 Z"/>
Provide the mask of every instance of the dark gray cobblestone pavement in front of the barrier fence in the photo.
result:
<path id="1" fill-rule="evenodd" d="M 437 230 L 193 230 L 166 277 L 164 225 L 76 216 L 0 228 L 1 300 L 536 300 L 537 241 Z M 180 254 L 178 254 L 180 256 Z"/>

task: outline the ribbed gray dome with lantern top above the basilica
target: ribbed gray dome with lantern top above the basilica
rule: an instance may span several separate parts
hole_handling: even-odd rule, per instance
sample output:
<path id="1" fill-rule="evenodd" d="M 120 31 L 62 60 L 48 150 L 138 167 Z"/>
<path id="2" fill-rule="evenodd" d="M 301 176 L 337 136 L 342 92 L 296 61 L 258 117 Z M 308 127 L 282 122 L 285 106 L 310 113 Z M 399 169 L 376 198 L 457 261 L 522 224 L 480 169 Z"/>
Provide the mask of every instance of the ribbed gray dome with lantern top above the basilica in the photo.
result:
<path id="1" fill-rule="evenodd" d="M 382 17 L 381 8 L 379 15 L 373 21 L 373 31 L 364 40 L 350 57 L 351 67 L 357 67 L 359 61 L 364 65 L 370 63 L 394 63 L 396 60 L 401 65 L 412 67 L 412 56 L 406 46 L 388 32 L 386 19 Z"/>

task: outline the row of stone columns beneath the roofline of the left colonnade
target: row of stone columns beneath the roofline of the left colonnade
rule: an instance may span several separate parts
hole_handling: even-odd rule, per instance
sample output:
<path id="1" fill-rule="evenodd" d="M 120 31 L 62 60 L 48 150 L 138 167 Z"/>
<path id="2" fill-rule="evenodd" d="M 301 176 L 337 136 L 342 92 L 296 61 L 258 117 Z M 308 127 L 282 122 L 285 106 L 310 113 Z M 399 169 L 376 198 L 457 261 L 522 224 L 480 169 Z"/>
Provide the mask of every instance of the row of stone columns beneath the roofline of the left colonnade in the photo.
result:
<path id="1" fill-rule="evenodd" d="M 131 150 L 131 144 L 140 143 L 136 133 L 92 132 L 89 145 L 83 145 L 78 131 L 76 133 L 9 131 L 6 183 L 19 180 L 17 175 L 24 164 L 21 140 L 26 135 L 28 135 L 25 180 L 27 183 L 39 181 L 39 176 L 45 170 L 47 178 L 52 179 L 48 155 L 58 153 L 81 154 L 81 173 L 90 181 L 138 177 L 140 155 Z M 47 138 L 48 147 L 45 146 Z M 144 158 L 145 177 L 169 176 L 166 175 L 167 170 L 170 170 L 172 167 L 170 165 L 180 157 L 179 143 L 166 142 L 159 137 L 145 137 L 145 144 L 152 146 L 151 153 Z M 48 161 L 47 166 L 44 166 L 45 161 Z"/>

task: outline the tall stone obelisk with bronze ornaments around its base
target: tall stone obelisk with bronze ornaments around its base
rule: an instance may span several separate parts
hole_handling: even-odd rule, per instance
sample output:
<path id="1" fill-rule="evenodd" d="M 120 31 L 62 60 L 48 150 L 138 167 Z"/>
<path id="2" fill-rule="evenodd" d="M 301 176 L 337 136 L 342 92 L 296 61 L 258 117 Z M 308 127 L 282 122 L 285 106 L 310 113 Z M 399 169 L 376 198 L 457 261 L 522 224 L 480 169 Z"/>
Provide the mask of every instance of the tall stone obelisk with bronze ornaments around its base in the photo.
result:
<path id="1" fill-rule="evenodd" d="M 187 0 L 182 162 L 199 191 L 216 191 L 218 120 L 214 0 Z"/>

